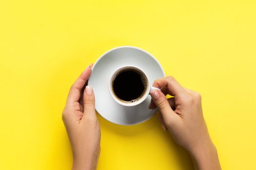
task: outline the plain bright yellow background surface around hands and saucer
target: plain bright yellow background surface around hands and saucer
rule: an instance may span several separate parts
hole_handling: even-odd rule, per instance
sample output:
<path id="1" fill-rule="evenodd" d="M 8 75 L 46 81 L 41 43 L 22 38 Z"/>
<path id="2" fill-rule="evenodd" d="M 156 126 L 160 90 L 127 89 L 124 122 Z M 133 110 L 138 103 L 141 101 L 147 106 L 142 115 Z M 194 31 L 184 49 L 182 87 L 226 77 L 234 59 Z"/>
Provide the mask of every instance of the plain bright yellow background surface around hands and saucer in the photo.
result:
<path id="1" fill-rule="evenodd" d="M 201 93 L 223 170 L 256 170 L 255 0 L 0 0 L 0 170 L 70 170 L 70 85 L 122 45 L 151 52 Z M 98 119 L 98 170 L 193 169 L 156 116 Z"/>

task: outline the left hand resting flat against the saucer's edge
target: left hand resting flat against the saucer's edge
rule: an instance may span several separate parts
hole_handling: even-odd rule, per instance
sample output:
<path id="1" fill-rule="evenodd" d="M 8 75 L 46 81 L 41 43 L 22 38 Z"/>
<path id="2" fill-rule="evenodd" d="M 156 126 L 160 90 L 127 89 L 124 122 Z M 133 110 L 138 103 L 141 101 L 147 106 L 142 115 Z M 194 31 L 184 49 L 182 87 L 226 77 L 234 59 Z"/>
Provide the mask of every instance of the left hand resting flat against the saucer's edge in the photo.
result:
<path id="1" fill-rule="evenodd" d="M 73 170 L 96 170 L 100 153 L 100 128 L 95 112 L 94 92 L 87 85 L 91 67 L 92 64 L 71 86 L 62 112 L 73 153 Z"/>

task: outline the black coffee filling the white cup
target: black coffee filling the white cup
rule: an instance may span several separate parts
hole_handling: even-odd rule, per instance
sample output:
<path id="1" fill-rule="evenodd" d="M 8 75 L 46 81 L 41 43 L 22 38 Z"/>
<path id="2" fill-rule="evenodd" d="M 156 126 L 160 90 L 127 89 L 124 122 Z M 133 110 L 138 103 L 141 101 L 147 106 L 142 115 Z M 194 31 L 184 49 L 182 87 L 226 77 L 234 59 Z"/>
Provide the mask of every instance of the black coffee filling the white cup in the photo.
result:
<path id="1" fill-rule="evenodd" d="M 115 95 L 125 102 L 139 100 L 147 89 L 145 76 L 134 68 L 118 72 L 112 85 Z"/>

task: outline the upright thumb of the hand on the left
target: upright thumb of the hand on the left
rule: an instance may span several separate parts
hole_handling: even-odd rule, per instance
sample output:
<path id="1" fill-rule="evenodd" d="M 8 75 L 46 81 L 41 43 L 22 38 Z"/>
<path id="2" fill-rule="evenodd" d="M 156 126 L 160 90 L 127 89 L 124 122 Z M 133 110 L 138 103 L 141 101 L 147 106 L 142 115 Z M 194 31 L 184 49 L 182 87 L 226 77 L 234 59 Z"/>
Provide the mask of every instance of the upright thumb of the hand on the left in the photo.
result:
<path id="1" fill-rule="evenodd" d="M 83 114 L 96 117 L 95 98 L 93 88 L 91 85 L 87 85 L 83 93 Z"/>

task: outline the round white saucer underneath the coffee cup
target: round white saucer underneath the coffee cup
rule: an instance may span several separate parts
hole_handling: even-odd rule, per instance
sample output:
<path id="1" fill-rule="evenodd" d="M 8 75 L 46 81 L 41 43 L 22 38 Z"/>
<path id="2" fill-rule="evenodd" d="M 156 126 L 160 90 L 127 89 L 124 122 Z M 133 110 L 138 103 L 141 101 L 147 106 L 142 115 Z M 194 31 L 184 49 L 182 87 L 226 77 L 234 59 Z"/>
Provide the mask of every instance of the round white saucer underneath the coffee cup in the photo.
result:
<path id="1" fill-rule="evenodd" d="M 120 125 L 138 124 L 150 119 L 156 109 L 149 109 L 150 95 L 137 106 L 122 106 L 111 97 L 108 84 L 114 71 L 125 65 L 141 68 L 149 77 L 150 85 L 165 77 L 163 68 L 157 59 L 142 49 L 132 46 L 121 46 L 102 54 L 92 68 L 88 81 L 95 94 L 95 108 L 105 119 Z"/>

